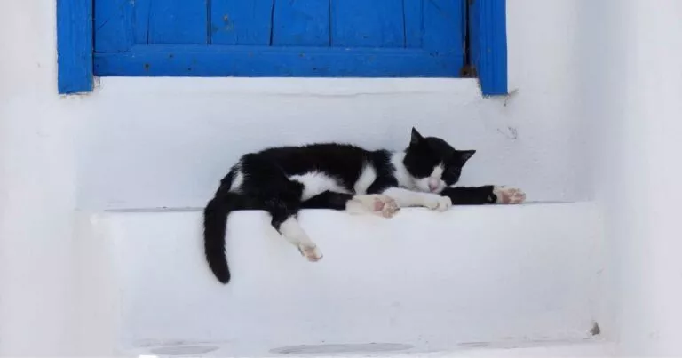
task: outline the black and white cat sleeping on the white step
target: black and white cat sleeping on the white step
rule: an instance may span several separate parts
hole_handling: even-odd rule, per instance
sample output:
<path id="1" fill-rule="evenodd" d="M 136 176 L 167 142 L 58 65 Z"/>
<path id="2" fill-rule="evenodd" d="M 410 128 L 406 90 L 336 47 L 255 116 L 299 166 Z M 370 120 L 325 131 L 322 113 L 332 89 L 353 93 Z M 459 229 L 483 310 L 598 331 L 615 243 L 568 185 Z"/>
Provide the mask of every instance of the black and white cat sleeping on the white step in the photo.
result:
<path id="1" fill-rule="evenodd" d="M 446 211 L 454 204 L 522 203 L 508 187 L 454 187 L 473 150 L 456 150 L 414 128 L 404 151 L 369 151 L 345 144 L 275 147 L 243 155 L 204 210 L 204 248 L 213 274 L 230 281 L 225 253 L 230 211 L 258 209 L 305 259 L 322 253 L 297 222 L 301 209 L 334 209 L 390 218 L 401 207 Z"/>

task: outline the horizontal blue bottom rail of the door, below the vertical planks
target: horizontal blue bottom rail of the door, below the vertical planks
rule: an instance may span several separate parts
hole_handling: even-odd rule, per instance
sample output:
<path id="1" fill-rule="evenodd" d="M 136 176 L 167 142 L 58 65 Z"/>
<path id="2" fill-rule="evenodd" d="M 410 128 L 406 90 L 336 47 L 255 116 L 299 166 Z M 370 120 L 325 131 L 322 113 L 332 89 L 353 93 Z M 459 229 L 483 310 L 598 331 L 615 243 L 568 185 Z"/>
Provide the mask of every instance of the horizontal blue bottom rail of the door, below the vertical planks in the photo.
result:
<path id="1" fill-rule="evenodd" d="M 100 76 L 456 77 L 462 65 L 403 48 L 157 45 L 95 56 Z"/>

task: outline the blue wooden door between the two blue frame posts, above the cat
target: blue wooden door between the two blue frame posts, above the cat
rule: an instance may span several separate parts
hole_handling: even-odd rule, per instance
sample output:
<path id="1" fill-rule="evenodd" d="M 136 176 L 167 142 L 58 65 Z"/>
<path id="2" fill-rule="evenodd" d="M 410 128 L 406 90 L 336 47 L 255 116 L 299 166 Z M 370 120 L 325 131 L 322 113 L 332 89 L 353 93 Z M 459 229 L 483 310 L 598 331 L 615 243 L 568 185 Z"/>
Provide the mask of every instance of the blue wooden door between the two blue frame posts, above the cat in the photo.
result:
<path id="1" fill-rule="evenodd" d="M 466 0 L 94 0 L 99 76 L 449 76 Z"/>

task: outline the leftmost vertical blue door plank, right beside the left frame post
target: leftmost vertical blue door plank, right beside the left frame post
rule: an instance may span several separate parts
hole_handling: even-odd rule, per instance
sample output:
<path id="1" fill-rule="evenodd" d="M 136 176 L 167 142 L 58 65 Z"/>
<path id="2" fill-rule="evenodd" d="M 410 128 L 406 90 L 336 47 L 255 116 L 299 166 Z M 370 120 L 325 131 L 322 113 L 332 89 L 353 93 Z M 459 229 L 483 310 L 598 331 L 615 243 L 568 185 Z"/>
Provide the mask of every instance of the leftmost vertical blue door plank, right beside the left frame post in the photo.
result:
<path id="1" fill-rule="evenodd" d="M 97 0 L 95 2 L 96 52 L 125 52 L 131 49 L 133 44 L 131 14 L 130 0 Z"/>

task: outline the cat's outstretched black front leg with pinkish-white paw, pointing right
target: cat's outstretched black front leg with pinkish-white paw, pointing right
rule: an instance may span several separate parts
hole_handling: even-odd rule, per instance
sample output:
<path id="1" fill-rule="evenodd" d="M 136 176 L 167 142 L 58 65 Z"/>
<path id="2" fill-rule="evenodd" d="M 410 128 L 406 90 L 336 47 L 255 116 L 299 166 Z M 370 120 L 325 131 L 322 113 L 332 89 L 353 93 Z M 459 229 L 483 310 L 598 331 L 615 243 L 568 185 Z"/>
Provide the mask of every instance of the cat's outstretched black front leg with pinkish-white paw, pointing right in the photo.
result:
<path id="1" fill-rule="evenodd" d="M 515 187 L 447 187 L 440 195 L 448 196 L 454 205 L 519 204 L 526 194 Z"/>

